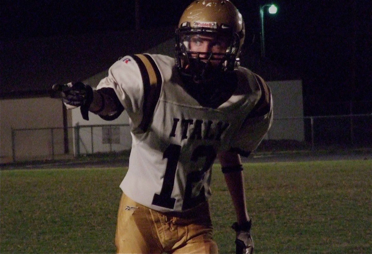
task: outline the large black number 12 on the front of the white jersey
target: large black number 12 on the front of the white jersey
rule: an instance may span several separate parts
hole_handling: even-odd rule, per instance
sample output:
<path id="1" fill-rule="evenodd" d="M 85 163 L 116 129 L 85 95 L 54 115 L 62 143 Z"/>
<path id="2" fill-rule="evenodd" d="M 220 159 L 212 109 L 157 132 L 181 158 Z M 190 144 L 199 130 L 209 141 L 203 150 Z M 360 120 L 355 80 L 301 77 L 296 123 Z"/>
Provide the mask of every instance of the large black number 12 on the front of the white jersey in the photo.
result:
<path id="1" fill-rule="evenodd" d="M 174 144 L 169 145 L 169 147 L 164 151 L 163 159 L 167 159 L 167 166 L 164 174 L 163 186 L 161 187 L 160 194 L 154 194 L 153 205 L 169 209 L 174 208 L 176 199 L 171 197 L 171 194 L 174 187 L 178 160 L 181 155 L 180 152 L 181 146 Z M 202 157 L 205 157 L 202 169 L 193 171 L 186 176 L 186 189 L 182 206 L 183 210 L 191 208 L 195 206 L 195 204 L 205 200 L 205 191 L 203 186 L 200 187 L 199 194 L 195 197 L 192 197 L 192 191 L 194 187 L 203 180 L 205 172 L 208 171 L 214 162 L 214 159 L 216 158 L 214 148 L 212 146 L 200 145 L 193 151 L 190 160 L 197 162 L 199 158 Z"/>

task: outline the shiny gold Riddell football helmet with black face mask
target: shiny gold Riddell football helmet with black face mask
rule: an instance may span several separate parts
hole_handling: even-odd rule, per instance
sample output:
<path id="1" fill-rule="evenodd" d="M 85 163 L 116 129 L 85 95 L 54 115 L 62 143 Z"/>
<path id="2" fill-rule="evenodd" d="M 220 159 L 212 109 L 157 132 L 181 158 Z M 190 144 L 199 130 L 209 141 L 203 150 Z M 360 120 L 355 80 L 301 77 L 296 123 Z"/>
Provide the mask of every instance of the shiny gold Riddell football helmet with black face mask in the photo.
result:
<path id="1" fill-rule="evenodd" d="M 244 42 L 244 22 L 238 9 L 228 0 L 196 0 L 183 12 L 176 29 L 176 61 L 181 74 L 200 83 L 206 75 L 234 70 Z M 195 35 L 228 37 L 224 53 L 190 51 Z M 211 61 L 218 61 L 218 67 Z"/>

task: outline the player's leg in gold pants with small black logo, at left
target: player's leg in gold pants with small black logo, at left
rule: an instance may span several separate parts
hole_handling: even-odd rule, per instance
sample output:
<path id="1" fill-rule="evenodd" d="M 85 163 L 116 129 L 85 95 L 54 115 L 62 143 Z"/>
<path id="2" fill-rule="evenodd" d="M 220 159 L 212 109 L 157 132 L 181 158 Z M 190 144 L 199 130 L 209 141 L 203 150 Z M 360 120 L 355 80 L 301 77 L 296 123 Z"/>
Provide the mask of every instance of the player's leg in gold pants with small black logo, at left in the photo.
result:
<path id="1" fill-rule="evenodd" d="M 163 252 L 149 209 L 124 193 L 119 205 L 115 245 L 117 253 Z"/>

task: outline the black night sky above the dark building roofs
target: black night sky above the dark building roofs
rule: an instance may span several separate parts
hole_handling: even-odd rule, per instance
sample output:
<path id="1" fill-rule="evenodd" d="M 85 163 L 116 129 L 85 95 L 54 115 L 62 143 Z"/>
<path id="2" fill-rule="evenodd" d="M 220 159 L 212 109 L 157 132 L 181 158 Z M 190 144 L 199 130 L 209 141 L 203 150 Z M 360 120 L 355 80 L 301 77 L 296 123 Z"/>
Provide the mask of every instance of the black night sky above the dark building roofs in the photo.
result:
<path id="1" fill-rule="evenodd" d="M 140 2 L 142 28 L 176 25 L 189 4 L 185 0 Z M 267 2 L 232 2 L 256 34 L 253 47 L 259 54 L 259 5 Z M 305 103 L 371 100 L 371 1 L 273 2 L 278 13 L 265 15 L 266 57 L 301 74 Z M 134 0 L 2 0 L 1 39 L 132 29 L 134 6 Z"/>

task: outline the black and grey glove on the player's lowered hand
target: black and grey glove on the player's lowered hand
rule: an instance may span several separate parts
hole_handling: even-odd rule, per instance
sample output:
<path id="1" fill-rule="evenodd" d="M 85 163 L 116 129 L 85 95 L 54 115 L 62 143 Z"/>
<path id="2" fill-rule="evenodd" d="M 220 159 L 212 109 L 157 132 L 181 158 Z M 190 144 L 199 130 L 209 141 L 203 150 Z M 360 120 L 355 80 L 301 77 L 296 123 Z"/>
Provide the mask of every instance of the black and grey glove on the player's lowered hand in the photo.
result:
<path id="1" fill-rule="evenodd" d="M 231 228 L 236 232 L 236 254 L 252 254 L 253 253 L 253 240 L 250 234 L 251 220 L 247 221 L 243 225 L 238 225 L 237 222 L 232 224 Z"/>

